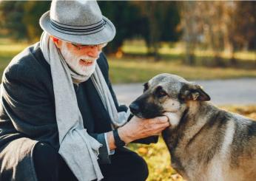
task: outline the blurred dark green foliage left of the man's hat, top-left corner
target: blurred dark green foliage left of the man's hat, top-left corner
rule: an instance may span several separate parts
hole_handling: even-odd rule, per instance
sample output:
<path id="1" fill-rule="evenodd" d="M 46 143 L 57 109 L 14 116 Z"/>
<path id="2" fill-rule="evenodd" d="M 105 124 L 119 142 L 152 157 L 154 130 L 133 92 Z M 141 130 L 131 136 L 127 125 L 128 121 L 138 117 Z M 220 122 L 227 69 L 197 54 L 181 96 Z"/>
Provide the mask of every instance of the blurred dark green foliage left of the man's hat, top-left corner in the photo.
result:
<path id="1" fill-rule="evenodd" d="M 50 1 L 1 1 L 1 27 L 10 38 L 38 40 L 42 32 L 38 20 L 49 9 Z"/>

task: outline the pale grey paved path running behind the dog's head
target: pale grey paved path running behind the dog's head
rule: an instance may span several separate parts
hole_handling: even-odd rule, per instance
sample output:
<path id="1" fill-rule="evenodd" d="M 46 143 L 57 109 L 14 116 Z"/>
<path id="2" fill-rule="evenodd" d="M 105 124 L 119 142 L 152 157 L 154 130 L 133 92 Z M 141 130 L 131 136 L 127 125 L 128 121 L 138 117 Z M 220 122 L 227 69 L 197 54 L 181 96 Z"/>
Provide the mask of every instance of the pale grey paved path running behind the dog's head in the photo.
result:
<path id="1" fill-rule="evenodd" d="M 224 104 L 255 104 L 256 105 L 256 78 L 240 78 L 231 80 L 195 81 L 212 98 L 212 103 Z M 129 105 L 141 95 L 143 83 L 130 83 L 114 85 L 113 89 L 119 103 Z"/>

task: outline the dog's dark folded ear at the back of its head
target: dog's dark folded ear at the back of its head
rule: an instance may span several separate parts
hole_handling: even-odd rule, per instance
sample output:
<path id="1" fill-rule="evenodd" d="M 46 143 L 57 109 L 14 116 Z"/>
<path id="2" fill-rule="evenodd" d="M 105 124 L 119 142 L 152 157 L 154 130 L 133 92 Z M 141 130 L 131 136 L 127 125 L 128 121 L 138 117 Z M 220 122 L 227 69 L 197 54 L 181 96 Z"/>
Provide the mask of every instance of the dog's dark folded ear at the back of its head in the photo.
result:
<path id="1" fill-rule="evenodd" d="M 179 97 L 181 98 L 181 100 L 211 100 L 209 95 L 207 95 L 207 93 L 203 91 L 202 86 L 192 84 L 184 84 L 181 88 Z"/>

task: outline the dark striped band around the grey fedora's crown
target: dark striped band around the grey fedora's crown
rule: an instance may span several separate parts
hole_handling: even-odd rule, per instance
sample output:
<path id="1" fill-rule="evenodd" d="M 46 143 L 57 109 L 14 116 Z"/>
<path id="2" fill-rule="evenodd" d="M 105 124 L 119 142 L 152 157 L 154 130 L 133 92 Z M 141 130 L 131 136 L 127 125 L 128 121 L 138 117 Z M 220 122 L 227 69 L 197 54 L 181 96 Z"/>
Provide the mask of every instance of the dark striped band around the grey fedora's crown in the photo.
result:
<path id="1" fill-rule="evenodd" d="M 105 24 L 107 24 L 107 22 L 104 21 L 104 19 L 101 19 L 101 21 L 87 26 L 70 26 L 67 24 L 60 24 L 57 21 L 50 19 L 50 25 L 54 30 L 70 35 L 89 35 L 92 33 L 97 33 L 104 29 Z"/>

